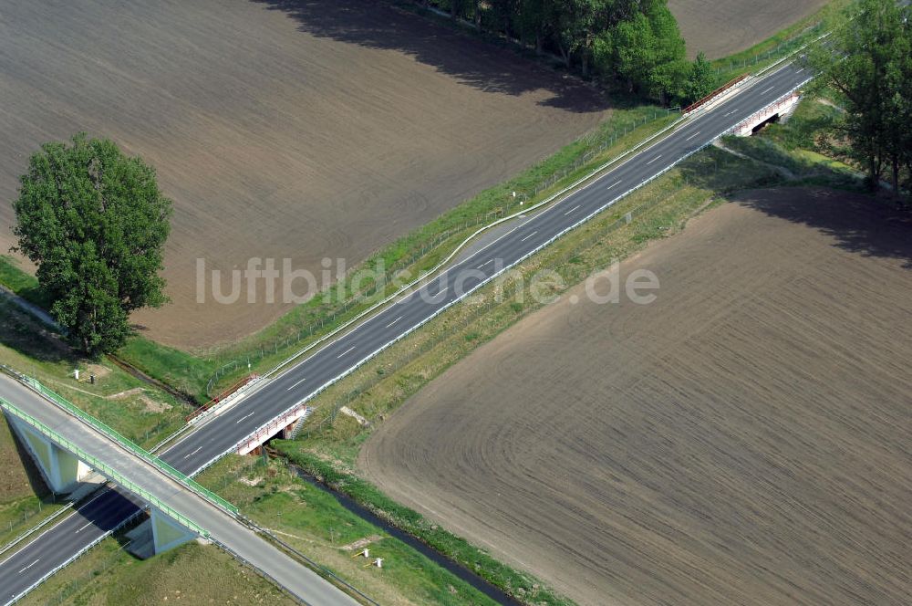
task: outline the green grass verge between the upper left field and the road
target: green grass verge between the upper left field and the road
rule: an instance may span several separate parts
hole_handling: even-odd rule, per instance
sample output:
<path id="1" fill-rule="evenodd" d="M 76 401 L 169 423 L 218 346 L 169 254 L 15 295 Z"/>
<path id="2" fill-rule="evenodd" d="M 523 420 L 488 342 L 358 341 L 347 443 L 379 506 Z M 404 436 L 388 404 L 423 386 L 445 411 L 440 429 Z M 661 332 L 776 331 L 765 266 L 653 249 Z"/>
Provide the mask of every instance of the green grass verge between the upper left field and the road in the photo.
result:
<path id="1" fill-rule="evenodd" d="M 653 106 L 615 110 L 596 131 L 553 156 L 463 202 L 369 256 L 340 285 L 296 306 L 252 337 L 191 355 L 131 339 L 119 356 L 151 377 L 204 402 L 248 371 L 266 371 L 436 266 L 480 225 L 534 204 L 660 131 L 676 114 Z M 513 193 L 516 196 L 513 197 Z M 383 279 L 373 279 L 382 276 Z M 395 277 L 395 279 L 393 279 Z M 209 379 L 216 376 L 213 384 Z"/>

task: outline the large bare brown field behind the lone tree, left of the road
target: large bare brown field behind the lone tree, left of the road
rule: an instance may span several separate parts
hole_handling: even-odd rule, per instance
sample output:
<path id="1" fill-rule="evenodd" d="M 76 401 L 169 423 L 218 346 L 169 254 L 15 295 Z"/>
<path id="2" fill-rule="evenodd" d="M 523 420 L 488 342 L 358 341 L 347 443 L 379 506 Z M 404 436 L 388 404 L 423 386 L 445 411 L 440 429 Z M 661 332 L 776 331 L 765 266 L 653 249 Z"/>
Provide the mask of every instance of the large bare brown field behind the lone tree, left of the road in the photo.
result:
<path id="1" fill-rule="evenodd" d="M 78 0 L 0 6 L 0 246 L 44 141 L 107 136 L 175 201 L 173 302 L 134 319 L 179 347 L 287 305 L 196 303 L 196 259 L 352 266 L 594 127 L 575 80 L 380 2 Z M 224 292 L 230 291 L 227 277 Z"/>

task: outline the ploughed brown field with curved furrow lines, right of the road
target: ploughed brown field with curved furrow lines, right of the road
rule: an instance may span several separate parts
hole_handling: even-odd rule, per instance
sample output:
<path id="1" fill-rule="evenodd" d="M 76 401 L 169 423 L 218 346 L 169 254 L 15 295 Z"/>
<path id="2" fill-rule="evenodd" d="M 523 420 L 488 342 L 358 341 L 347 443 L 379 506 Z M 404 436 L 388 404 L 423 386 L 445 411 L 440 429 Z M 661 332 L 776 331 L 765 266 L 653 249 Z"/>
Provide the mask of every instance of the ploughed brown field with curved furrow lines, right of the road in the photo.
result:
<path id="1" fill-rule="evenodd" d="M 571 289 L 358 465 L 581 604 L 908 603 L 910 235 L 863 196 L 746 193 L 621 264 L 654 303 Z"/>

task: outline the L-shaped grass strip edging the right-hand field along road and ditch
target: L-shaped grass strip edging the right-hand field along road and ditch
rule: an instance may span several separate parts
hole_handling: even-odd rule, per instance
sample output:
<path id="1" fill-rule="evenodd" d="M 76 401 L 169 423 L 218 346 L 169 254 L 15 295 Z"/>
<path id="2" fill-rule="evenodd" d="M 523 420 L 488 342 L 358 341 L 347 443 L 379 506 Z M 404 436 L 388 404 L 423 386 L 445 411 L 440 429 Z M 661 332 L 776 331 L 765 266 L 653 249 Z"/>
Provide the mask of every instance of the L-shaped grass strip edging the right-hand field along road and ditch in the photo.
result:
<path id="1" fill-rule="evenodd" d="M 843 167 L 821 160 L 822 156 L 808 156 L 800 149 L 787 150 L 776 142 L 782 137 L 803 136 L 798 133 L 810 130 L 818 105 L 814 100 L 805 101 L 797 112 L 794 127 L 780 126 L 761 138 L 726 141 L 730 149 L 749 156 L 747 159 L 717 148 L 700 152 L 629 196 L 603 217 L 523 263 L 524 281 L 528 283 L 528 278 L 540 269 L 554 269 L 565 285 L 552 287 L 553 296 L 559 297 L 565 287 L 580 282 L 612 259 L 629 256 L 650 240 L 675 234 L 689 217 L 720 204 L 727 194 L 739 190 L 777 183 L 858 189 L 855 177 Z M 623 220 L 627 212 L 637 214 L 629 225 Z M 541 583 L 536 584 L 536 593 L 534 581 L 522 572 L 503 566 L 483 549 L 399 506 L 359 478 L 354 471 L 355 459 L 371 430 L 349 416 L 335 414 L 338 406 L 347 404 L 371 423 L 381 423 L 434 377 L 541 307 L 541 303 L 528 296 L 523 300 L 510 297 L 497 302 L 495 294 L 503 289 L 513 291 L 509 281 L 485 287 L 480 300 L 452 308 L 317 396 L 314 404 L 318 412 L 311 423 L 320 429 L 298 441 L 275 445 L 283 455 L 328 485 L 352 496 L 451 559 L 477 570 L 493 584 L 523 600 L 561 603 L 557 596 L 544 595 L 546 589 Z"/>

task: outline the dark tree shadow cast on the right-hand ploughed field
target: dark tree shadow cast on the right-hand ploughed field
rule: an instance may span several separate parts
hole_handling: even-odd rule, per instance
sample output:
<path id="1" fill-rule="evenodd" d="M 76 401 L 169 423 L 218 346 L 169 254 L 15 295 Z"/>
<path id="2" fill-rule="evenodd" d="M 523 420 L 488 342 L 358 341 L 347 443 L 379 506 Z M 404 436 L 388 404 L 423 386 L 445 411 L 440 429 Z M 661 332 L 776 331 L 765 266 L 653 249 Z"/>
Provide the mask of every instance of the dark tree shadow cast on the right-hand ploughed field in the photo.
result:
<path id="1" fill-rule="evenodd" d="M 912 269 L 912 212 L 908 208 L 823 187 L 751 191 L 736 200 L 765 214 L 814 227 L 849 252 L 899 259 Z"/>

